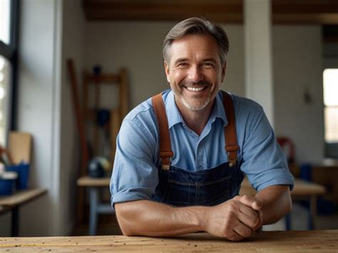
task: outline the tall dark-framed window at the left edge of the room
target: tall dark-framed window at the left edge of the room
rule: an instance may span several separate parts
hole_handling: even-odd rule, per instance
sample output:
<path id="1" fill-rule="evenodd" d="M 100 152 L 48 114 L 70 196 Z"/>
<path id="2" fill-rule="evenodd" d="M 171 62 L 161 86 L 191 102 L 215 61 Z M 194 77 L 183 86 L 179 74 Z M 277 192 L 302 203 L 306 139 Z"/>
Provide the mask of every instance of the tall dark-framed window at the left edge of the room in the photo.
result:
<path id="1" fill-rule="evenodd" d="M 15 129 L 19 0 L 0 0 L 0 145 Z"/>

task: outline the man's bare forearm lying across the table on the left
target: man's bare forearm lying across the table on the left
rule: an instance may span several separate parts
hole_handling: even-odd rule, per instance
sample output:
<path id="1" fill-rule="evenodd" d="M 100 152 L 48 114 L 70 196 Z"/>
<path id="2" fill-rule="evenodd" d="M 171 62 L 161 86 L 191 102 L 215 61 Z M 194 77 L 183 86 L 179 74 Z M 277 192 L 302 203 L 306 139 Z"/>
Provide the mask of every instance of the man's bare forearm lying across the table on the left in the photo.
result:
<path id="1" fill-rule="evenodd" d="M 171 207 L 150 200 L 117 203 L 116 216 L 123 234 L 168 237 L 203 230 L 208 207 Z"/>

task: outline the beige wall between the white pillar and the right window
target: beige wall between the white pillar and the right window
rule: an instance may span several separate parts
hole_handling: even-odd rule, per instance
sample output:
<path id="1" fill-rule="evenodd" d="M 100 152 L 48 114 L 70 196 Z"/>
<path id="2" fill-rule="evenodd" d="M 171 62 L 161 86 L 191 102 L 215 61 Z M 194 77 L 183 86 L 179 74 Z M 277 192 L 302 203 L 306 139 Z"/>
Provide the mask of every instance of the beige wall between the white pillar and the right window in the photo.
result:
<path id="1" fill-rule="evenodd" d="M 294 140 L 297 162 L 324 158 L 321 41 L 320 26 L 276 26 L 273 31 L 275 130 Z"/>

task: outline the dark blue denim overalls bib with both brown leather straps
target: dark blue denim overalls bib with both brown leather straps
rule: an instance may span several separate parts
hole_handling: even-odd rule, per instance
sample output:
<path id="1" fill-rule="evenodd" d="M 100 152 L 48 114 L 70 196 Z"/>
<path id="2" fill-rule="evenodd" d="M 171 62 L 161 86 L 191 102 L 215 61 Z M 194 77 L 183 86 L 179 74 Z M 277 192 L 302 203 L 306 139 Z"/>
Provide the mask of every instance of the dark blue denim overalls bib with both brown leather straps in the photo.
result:
<path id="1" fill-rule="evenodd" d="M 173 206 L 218 205 L 239 194 L 243 173 L 237 162 L 237 134 L 235 110 L 232 98 L 222 91 L 223 105 L 227 115 L 224 128 L 225 152 L 228 162 L 207 170 L 190 171 L 170 165 L 171 150 L 168 118 L 162 94 L 153 96 L 152 103 L 158 120 L 160 138 L 160 165 L 158 186 L 153 200 Z"/>

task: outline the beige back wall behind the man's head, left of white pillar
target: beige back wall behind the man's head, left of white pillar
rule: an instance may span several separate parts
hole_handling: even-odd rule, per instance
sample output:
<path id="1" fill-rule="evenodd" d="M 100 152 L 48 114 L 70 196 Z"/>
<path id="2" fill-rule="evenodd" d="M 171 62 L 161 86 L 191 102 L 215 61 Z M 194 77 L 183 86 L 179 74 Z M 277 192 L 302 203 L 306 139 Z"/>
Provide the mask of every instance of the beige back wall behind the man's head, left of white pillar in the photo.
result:
<path id="1" fill-rule="evenodd" d="M 169 84 L 165 79 L 162 43 L 173 22 L 89 22 L 86 29 L 86 69 L 100 63 L 103 72 L 115 73 L 125 66 L 132 108 Z M 225 26 L 230 41 L 225 85 L 244 95 L 242 26 Z M 113 94 L 109 94 L 113 100 Z M 113 97 L 113 98 L 112 98 Z M 107 98 L 109 99 L 109 98 Z M 113 104 L 114 105 L 114 104 Z"/>

